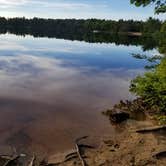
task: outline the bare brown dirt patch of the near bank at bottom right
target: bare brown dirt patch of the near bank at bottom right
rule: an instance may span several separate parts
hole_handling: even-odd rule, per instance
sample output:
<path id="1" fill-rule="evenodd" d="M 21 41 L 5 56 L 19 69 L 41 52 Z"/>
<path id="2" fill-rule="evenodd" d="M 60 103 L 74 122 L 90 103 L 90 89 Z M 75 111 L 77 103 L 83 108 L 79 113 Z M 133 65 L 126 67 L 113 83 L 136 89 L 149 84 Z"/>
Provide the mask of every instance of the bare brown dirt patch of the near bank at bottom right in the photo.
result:
<path id="1" fill-rule="evenodd" d="M 94 149 L 84 149 L 82 155 L 87 166 L 165 166 L 166 156 L 156 158 L 158 152 L 166 150 L 166 140 L 160 134 L 136 133 L 135 129 L 153 126 L 149 121 L 127 122 L 115 126 L 119 133 L 103 138 L 101 145 Z M 63 154 L 64 155 L 64 154 Z M 56 155 L 55 155 L 56 156 Z M 54 157 L 55 157 L 54 156 Z M 49 163 L 57 162 L 54 157 Z M 59 158 L 60 159 L 60 158 Z M 61 156 L 62 159 L 62 156 Z M 58 166 L 81 166 L 78 158 L 62 162 Z"/>

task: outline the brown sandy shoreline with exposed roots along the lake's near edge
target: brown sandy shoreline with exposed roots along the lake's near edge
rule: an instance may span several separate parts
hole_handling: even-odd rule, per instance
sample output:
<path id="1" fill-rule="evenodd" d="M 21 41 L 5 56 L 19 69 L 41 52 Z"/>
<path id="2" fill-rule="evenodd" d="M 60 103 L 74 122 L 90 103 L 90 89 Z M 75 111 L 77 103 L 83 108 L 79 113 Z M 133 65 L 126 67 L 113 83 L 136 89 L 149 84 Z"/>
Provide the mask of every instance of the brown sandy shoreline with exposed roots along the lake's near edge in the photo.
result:
<path id="1" fill-rule="evenodd" d="M 112 136 L 110 133 L 108 136 L 103 136 L 98 147 L 93 146 L 93 140 L 89 141 L 89 138 L 82 140 L 80 142 L 81 156 L 88 166 L 110 166 L 112 164 L 114 166 L 163 166 L 166 164 L 165 136 L 155 132 L 144 134 L 136 132 L 137 129 L 153 127 L 154 125 L 154 121 L 149 118 L 144 121 L 128 119 L 114 125 L 116 134 Z M 86 146 L 83 148 L 83 145 Z M 77 154 L 72 156 L 75 152 L 76 147 L 73 146 L 71 150 L 55 153 L 45 158 L 35 156 L 34 165 L 45 162 L 47 164 L 41 166 L 81 166 Z M 160 152 L 165 154 L 160 155 Z M 25 156 L 25 165 L 30 163 L 33 158 L 33 154 Z"/>

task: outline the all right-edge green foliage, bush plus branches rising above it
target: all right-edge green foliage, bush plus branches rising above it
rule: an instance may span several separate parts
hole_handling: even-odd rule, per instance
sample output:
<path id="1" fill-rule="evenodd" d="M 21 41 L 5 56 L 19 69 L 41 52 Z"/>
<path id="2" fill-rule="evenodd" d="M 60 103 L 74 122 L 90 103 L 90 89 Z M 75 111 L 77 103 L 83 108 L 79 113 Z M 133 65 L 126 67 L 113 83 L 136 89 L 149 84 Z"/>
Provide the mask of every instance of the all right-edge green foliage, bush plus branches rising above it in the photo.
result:
<path id="1" fill-rule="evenodd" d="M 156 23 L 149 19 L 144 26 L 144 31 L 146 31 L 145 29 L 147 29 L 146 32 L 151 31 L 150 33 L 158 43 L 157 49 L 162 55 L 150 58 L 146 55 L 133 54 L 133 57 L 146 59 L 153 64 L 147 66 L 151 70 L 150 72 L 132 80 L 130 91 L 145 102 L 145 105 L 148 106 L 145 110 L 155 115 L 160 124 L 166 124 L 166 22 L 162 23 L 160 31 L 159 29 L 155 31 L 156 28 L 150 29 L 153 24 L 154 27 L 155 25 L 158 27 L 159 24 Z M 159 64 L 156 62 L 159 62 Z"/>

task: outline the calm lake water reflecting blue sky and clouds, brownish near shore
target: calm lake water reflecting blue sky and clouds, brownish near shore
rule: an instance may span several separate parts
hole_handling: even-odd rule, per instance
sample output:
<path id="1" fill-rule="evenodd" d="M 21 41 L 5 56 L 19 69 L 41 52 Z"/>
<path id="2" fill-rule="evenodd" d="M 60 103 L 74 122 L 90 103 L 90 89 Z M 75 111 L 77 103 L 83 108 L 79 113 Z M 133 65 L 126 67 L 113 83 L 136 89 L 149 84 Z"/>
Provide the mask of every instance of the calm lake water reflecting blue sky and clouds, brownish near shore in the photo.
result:
<path id="1" fill-rule="evenodd" d="M 130 81 L 147 65 L 132 53 L 141 46 L 0 35 L 0 145 L 54 153 L 113 135 L 101 112 L 132 99 Z"/>

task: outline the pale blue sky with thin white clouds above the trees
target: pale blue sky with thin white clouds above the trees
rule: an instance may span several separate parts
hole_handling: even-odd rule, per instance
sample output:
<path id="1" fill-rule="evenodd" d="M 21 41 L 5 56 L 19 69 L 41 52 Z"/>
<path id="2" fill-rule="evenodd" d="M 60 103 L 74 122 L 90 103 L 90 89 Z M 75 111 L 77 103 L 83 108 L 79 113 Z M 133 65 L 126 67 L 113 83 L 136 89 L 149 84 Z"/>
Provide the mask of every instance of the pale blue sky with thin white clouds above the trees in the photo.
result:
<path id="1" fill-rule="evenodd" d="M 99 18 L 146 20 L 154 15 L 154 6 L 135 7 L 130 0 L 0 0 L 0 16 L 42 18 Z"/>

